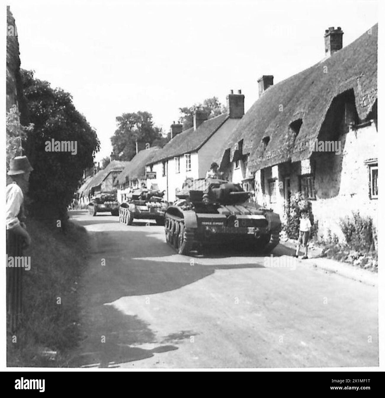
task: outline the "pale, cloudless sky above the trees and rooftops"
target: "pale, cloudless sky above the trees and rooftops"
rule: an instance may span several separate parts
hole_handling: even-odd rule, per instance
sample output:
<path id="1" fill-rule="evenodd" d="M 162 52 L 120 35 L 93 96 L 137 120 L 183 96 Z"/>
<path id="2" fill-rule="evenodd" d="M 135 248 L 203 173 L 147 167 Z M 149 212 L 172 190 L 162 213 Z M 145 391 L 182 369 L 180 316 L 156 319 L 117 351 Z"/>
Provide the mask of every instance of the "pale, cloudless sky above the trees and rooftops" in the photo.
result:
<path id="1" fill-rule="evenodd" d="M 346 46 L 378 21 L 377 1 L 8 1 L 21 67 L 73 96 L 111 153 L 115 118 L 148 111 L 169 131 L 179 107 L 231 89 L 258 99 L 257 79 L 274 84 L 319 62 L 323 34 L 340 26 Z"/>

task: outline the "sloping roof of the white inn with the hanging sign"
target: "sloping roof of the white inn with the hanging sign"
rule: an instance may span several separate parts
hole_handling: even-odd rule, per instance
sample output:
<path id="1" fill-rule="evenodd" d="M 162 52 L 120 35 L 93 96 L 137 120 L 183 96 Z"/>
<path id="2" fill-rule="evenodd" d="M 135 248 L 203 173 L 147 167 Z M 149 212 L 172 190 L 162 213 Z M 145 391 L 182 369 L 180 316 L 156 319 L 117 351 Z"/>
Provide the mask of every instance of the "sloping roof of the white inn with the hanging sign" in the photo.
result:
<path id="1" fill-rule="evenodd" d="M 222 115 L 204 121 L 195 131 L 194 128 L 191 127 L 191 129 L 179 133 L 167 142 L 148 164 L 157 163 L 162 160 L 173 158 L 174 156 L 181 156 L 185 153 L 198 150 L 228 118 L 229 115 L 223 113 Z"/>

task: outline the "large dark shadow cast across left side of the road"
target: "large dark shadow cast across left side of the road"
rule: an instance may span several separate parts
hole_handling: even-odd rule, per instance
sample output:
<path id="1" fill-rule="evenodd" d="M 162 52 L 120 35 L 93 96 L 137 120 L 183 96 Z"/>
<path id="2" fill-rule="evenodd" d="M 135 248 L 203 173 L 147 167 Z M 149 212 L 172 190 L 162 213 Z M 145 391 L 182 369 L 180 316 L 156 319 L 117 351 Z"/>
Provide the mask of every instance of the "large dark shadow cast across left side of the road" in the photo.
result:
<path id="1" fill-rule="evenodd" d="M 104 217 L 103 217 L 104 218 Z M 95 220 L 79 220 L 86 226 L 98 223 Z M 103 220 L 103 224 L 117 222 Z M 146 222 L 141 223 L 146 225 Z M 159 227 L 162 228 L 162 227 Z M 179 289 L 212 275 L 216 269 L 262 268 L 259 260 L 245 259 L 244 263 L 231 264 L 232 260 L 217 261 L 213 265 L 201 265 L 195 258 L 190 265 L 188 256 L 175 255 L 175 251 L 154 228 L 147 230 L 138 226 L 137 230 L 100 230 L 89 232 L 93 250 L 78 288 L 82 314 L 82 343 L 68 366 L 114 367 L 119 363 L 149 358 L 154 353 L 178 349 L 180 340 L 194 335 L 192 331 L 175 331 L 157 341 L 150 325 L 135 315 L 124 314 L 111 303 L 121 297 L 144 296 Z M 219 260 L 225 256 L 223 250 L 211 253 L 211 258 Z M 240 257 L 239 254 L 236 254 Z M 245 254 L 246 256 L 247 254 Z M 227 254 L 229 256 L 229 254 Z M 173 261 L 169 261 L 173 258 Z M 175 259 L 176 258 L 176 259 Z M 249 263 L 247 263 L 249 261 Z M 219 262 L 219 263 L 218 263 Z M 241 261 L 243 262 L 243 261 Z M 141 298 L 138 298 L 139 300 Z M 104 338 L 103 338 L 104 336 Z M 136 345 L 154 345 L 152 349 Z M 164 345 L 163 345 L 164 344 Z"/>

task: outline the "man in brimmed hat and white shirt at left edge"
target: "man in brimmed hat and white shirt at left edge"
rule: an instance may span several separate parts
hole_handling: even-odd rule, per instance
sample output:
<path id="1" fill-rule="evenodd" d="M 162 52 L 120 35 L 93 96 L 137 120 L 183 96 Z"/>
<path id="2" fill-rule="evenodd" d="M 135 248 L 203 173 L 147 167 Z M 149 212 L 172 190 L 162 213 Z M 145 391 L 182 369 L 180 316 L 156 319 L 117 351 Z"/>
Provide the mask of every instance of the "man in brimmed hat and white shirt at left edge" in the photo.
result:
<path id="1" fill-rule="evenodd" d="M 27 156 L 16 156 L 10 162 L 8 176 L 12 183 L 6 189 L 6 226 L 7 239 L 10 235 L 17 236 L 26 248 L 31 244 L 31 238 L 25 230 L 23 219 L 23 193 L 28 189 L 29 174 L 33 170 Z"/>

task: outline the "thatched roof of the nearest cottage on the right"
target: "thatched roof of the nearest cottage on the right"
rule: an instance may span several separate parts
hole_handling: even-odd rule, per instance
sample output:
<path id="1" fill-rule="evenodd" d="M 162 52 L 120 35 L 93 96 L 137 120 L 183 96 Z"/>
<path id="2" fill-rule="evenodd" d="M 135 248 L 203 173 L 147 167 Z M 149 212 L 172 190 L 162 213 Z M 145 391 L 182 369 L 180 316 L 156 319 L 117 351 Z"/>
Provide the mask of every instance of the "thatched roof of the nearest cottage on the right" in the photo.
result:
<path id="1" fill-rule="evenodd" d="M 241 156 L 249 154 L 250 171 L 309 158 L 309 143 L 333 99 L 347 90 L 354 91 L 358 117 L 364 120 L 377 100 L 377 24 L 331 57 L 270 86 L 218 150 L 217 162 L 222 160 L 223 167 L 233 160 L 235 144 L 242 140 Z M 294 141 L 289 126 L 298 119 L 303 124 Z"/>

